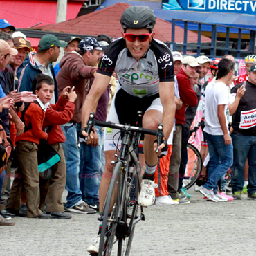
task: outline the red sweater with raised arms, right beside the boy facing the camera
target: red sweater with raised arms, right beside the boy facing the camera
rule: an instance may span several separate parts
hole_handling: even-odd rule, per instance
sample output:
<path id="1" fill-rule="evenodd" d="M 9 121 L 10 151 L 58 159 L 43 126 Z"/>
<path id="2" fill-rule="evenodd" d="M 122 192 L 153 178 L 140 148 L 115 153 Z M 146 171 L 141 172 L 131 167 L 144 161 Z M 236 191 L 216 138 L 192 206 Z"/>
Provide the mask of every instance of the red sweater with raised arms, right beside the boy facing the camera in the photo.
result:
<path id="1" fill-rule="evenodd" d="M 46 116 L 44 118 L 43 125 L 43 129 L 48 127 L 47 141 L 49 145 L 65 142 L 65 136 L 60 125 L 64 125 L 71 120 L 74 109 L 75 104 L 68 101 L 68 99 L 62 98 L 62 96 L 60 96 L 55 105 L 50 104 L 46 110 Z"/>

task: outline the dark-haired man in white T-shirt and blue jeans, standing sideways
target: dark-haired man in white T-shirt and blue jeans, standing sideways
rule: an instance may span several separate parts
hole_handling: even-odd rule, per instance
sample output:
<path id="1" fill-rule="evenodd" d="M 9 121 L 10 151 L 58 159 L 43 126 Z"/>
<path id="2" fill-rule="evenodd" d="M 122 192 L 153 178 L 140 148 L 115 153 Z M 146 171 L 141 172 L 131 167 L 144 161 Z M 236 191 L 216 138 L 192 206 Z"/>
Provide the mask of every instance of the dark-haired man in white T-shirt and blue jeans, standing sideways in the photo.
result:
<path id="1" fill-rule="evenodd" d="M 217 182 L 233 161 L 232 140 L 228 131 L 228 84 L 232 82 L 235 63 L 222 59 L 218 64 L 216 81 L 208 84 L 205 91 L 205 138 L 210 154 L 208 181 L 199 190 L 211 201 L 221 201 Z"/>

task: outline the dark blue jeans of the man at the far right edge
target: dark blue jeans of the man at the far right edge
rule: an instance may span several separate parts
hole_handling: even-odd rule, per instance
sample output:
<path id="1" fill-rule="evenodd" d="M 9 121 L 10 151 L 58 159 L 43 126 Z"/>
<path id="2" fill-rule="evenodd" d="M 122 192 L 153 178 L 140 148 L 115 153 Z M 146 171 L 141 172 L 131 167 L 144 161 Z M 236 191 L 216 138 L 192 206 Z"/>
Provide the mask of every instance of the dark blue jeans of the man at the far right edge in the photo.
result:
<path id="1" fill-rule="evenodd" d="M 234 163 L 232 166 L 232 192 L 244 187 L 244 165 L 248 157 L 248 193 L 256 192 L 256 136 L 232 134 L 234 144 Z"/>

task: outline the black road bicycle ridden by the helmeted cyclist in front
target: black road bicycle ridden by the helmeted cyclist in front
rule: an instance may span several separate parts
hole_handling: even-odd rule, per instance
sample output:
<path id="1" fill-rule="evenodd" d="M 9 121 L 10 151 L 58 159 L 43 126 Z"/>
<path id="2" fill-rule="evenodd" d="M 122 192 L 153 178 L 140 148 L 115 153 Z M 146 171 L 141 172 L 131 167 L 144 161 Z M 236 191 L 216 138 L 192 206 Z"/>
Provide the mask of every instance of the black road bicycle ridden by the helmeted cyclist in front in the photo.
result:
<path id="1" fill-rule="evenodd" d="M 138 116 L 141 122 L 142 113 L 138 113 Z M 111 255 L 113 244 L 117 243 L 117 255 L 127 256 L 131 250 L 136 224 L 140 220 L 145 221 L 143 207 L 138 205 L 141 181 L 140 163 L 138 161 L 140 135 L 156 136 L 159 146 L 163 139 L 163 125 L 159 124 L 158 130 L 155 131 L 142 127 L 94 120 L 94 113 L 91 113 L 87 124 L 88 134 L 94 125 L 122 130 L 120 154 L 118 156 L 116 152 L 117 160 L 112 161 L 114 165 L 113 174 L 101 217 L 98 218 L 98 220 L 102 221 L 98 255 Z"/>

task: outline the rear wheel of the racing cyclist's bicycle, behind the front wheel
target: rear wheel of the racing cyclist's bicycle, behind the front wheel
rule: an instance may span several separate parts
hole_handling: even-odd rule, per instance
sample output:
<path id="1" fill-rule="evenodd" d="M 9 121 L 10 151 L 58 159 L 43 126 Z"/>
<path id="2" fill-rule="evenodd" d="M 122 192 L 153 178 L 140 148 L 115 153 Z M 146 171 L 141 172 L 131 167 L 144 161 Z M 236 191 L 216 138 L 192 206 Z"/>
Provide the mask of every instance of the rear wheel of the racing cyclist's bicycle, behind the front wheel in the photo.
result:
<path id="1" fill-rule="evenodd" d="M 134 167 L 129 167 L 134 168 Z M 140 179 L 138 174 L 140 172 L 132 171 L 133 175 L 127 175 L 125 179 L 125 204 L 123 210 L 123 219 L 127 228 L 127 236 L 118 237 L 118 256 L 128 256 L 131 250 L 132 240 L 134 238 L 135 224 L 134 219 L 136 219 L 138 214 L 138 194 L 140 190 Z M 130 172 L 131 174 L 131 172 Z M 135 186 L 135 188 L 133 188 Z M 134 194 L 135 189 L 135 194 Z M 132 205 L 131 205 L 132 203 Z"/>

